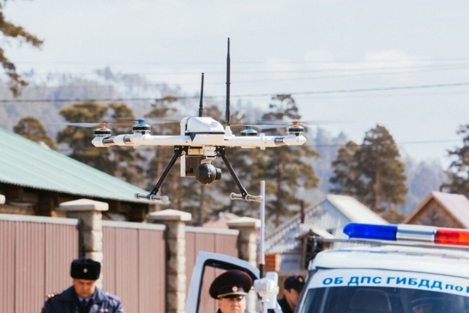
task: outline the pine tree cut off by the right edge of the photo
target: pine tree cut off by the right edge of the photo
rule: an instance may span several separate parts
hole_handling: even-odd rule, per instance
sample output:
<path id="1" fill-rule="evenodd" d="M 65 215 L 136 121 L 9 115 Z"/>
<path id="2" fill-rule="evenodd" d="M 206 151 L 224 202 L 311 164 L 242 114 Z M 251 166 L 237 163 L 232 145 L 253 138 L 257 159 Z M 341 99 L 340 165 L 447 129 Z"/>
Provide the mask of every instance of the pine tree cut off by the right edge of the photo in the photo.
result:
<path id="1" fill-rule="evenodd" d="M 461 126 L 457 134 L 462 136 L 463 146 L 448 151 L 449 156 L 456 157 L 448 168 L 449 190 L 469 197 L 469 124 Z"/>

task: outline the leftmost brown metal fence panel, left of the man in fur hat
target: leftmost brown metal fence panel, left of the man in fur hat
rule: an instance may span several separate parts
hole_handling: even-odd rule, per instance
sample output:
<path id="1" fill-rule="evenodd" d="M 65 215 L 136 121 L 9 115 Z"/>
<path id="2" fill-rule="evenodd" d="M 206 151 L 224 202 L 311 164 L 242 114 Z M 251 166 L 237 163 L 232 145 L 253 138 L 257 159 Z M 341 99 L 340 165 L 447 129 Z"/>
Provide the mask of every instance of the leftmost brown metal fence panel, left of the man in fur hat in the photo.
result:
<path id="1" fill-rule="evenodd" d="M 47 293 L 71 284 L 77 220 L 0 214 L 0 312 L 40 312 Z"/>

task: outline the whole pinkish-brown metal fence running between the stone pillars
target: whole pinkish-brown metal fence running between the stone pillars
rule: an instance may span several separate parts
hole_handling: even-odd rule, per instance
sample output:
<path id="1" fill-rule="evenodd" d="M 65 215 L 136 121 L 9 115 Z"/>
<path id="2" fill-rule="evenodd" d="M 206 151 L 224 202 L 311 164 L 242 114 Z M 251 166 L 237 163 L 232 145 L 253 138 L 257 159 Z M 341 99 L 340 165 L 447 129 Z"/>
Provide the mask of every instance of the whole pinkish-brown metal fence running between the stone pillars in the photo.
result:
<path id="1" fill-rule="evenodd" d="M 169 312 L 167 227 L 100 223 L 104 290 L 121 297 L 127 312 Z M 72 218 L 0 214 L 0 312 L 40 312 L 46 294 L 71 285 L 70 262 L 84 251 L 79 224 Z M 197 253 L 238 256 L 239 231 L 185 228 L 187 291 Z"/>

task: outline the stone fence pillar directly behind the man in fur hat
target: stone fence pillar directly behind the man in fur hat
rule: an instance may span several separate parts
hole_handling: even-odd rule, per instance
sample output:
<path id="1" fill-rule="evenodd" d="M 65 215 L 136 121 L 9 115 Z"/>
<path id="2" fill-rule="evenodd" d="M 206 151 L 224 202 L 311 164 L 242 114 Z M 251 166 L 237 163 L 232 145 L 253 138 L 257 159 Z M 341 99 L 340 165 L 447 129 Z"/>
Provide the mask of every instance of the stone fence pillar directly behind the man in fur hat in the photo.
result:
<path id="1" fill-rule="evenodd" d="M 101 212 L 108 209 L 109 204 L 106 202 L 89 199 L 62 202 L 59 205 L 59 210 L 65 212 L 67 218 L 80 220 L 84 256 L 100 262 L 101 265 L 103 265 L 103 214 Z M 103 288 L 102 270 L 96 285 Z"/>

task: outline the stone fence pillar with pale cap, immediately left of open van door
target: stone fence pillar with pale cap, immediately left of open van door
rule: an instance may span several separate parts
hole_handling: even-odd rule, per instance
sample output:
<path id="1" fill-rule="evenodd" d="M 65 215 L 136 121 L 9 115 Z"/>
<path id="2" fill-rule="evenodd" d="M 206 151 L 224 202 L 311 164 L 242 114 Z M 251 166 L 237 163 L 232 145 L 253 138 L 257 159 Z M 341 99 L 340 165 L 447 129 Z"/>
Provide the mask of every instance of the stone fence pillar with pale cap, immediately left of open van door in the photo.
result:
<path id="1" fill-rule="evenodd" d="M 151 212 L 147 221 L 166 225 L 166 312 L 185 313 L 186 309 L 186 222 L 192 214 L 177 210 Z"/>

